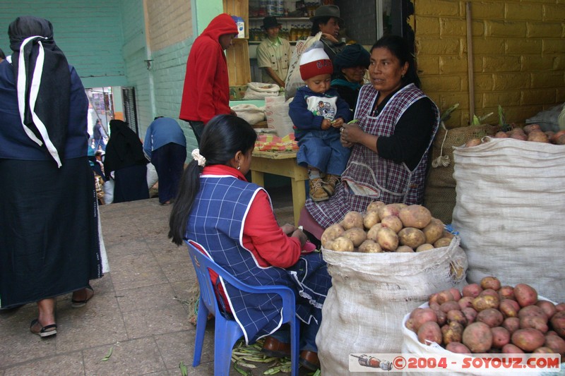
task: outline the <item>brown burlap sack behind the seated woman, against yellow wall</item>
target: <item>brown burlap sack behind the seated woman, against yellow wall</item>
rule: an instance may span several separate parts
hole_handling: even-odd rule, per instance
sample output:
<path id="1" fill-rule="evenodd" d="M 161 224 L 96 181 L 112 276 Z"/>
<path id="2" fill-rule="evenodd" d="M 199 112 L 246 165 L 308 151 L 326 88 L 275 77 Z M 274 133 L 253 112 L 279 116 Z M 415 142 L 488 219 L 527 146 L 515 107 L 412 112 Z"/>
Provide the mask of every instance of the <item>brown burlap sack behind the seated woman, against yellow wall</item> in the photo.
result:
<path id="1" fill-rule="evenodd" d="M 472 138 L 483 138 L 485 135 L 494 135 L 499 131 L 499 126 L 482 124 L 480 126 L 466 126 L 446 129 L 441 126 L 436 133 L 432 144 L 426 189 L 424 191 L 424 206 L 444 224 L 450 224 L 453 207 L 456 202 L 456 181 L 453 178 L 453 147 L 464 145 Z"/>

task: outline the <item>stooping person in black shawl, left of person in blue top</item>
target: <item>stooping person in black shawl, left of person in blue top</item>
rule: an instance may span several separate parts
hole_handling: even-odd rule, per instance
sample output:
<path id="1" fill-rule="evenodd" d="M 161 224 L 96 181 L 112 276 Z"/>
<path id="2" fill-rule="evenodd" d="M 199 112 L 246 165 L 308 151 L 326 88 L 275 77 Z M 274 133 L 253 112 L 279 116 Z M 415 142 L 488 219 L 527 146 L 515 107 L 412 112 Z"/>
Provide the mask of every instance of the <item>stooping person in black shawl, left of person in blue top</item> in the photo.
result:
<path id="1" fill-rule="evenodd" d="M 115 181 L 114 202 L 149 198 L 148 162 L 136 133 L 124 121 L 111 120 L 104 171 L 108 178 L 112 176 Z"/>

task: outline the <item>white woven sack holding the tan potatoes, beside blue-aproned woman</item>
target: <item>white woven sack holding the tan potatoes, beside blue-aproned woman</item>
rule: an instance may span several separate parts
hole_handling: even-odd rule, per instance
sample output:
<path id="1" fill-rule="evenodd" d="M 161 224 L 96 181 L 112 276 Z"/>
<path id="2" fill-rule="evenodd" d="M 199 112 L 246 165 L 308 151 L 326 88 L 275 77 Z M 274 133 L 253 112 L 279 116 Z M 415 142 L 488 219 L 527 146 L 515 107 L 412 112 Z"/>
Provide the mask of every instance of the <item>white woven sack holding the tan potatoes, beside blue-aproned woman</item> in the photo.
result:
<path id="1" fill-rule="evenodd" d="M 447 247 L 418 253 L 322 249 L 332 286 L 316 336 L 321 374 L 349 375 L 350 353 L 400 353 L 404 315 L 432 293 L 466 284 L 459 241 L 456 236 Z"/>

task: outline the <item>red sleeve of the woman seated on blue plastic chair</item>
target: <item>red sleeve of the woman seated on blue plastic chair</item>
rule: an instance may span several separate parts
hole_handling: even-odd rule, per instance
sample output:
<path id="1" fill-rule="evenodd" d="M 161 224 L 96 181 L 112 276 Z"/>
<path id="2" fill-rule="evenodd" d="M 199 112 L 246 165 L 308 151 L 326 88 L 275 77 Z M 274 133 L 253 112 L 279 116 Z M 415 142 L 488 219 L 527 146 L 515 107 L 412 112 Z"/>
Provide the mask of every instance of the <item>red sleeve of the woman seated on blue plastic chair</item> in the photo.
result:
<path id="1" fill-rule="evenodd" d="M 259 190 L 244 223 L 243 243 L 263 267 L 290 267 L 301 253 L 300 241 L 287 236 L 278 226 L 270 200 Z"/>

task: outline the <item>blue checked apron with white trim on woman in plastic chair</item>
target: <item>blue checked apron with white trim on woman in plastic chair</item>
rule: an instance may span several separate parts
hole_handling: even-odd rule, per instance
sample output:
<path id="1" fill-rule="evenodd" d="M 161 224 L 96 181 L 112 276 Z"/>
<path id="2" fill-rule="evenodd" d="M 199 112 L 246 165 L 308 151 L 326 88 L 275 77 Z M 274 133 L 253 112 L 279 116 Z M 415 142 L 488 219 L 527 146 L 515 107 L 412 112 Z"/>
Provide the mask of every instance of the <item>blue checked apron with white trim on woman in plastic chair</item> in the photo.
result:
<path id="1" fill-rule="evenodd" d="M 255 285 L 283 285 L 295 290 L 297 317 L 305 323 L 321 320 L 321 307 L 331 286 L 321 253 L 303 255 L 290 268 L 261 267 L 243 246 L 244 222 L 255 195 L 263 188 L 233 176 L 201 175 L 186 238 L 202 245 L 212 259 L 240 281 Z M 280 327 L 282 301 L 274 294 L 247 295 L 221 281 L 235 320 L 247 344 Z"/>

